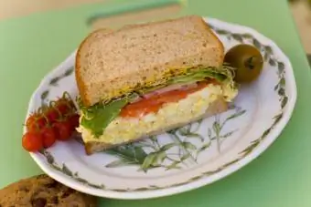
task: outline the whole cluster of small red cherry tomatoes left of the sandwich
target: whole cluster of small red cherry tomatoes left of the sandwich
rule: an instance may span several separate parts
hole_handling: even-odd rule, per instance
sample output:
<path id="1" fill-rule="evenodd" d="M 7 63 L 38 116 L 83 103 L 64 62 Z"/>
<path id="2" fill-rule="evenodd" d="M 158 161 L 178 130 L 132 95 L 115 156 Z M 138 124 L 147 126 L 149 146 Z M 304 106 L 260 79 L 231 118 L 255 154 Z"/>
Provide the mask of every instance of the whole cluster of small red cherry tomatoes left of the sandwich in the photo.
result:
<path id="1" fill-rule="evenodd" d="M 79 126 L 79 115 L 67 93 L 41 107 L 27 118 L 22 145 L 27 151 L 51 147 L 57 140 L 69 140 Z"/>

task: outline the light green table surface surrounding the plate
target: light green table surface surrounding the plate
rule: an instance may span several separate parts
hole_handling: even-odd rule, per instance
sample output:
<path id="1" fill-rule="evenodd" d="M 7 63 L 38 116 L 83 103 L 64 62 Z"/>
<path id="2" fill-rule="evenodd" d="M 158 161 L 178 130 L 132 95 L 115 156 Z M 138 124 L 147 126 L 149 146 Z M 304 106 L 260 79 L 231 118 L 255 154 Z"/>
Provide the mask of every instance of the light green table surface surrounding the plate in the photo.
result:
<path id="1" fill-rule="evenodd" d="M 84 24 L 85 18 L 113 5 L 107 6 L 81 5 L 0 23 L 0 188 L 42 172 L 21 147 L 22 123 L 29 97 L 41 78 L 70 55 L 87 35 L 90 28 Z M 154 207 L 165 202 L 171 207 L 311 206 L 311 127 L 308 121 L 311 76 L 286 1 L 191 0 L 183 13 L 252 26 L 272 38 L 294 66 L 298 88 L 294 115 L 268 150 L 221 181 L 153 200 L 101 199 L 101 206 Z"/>

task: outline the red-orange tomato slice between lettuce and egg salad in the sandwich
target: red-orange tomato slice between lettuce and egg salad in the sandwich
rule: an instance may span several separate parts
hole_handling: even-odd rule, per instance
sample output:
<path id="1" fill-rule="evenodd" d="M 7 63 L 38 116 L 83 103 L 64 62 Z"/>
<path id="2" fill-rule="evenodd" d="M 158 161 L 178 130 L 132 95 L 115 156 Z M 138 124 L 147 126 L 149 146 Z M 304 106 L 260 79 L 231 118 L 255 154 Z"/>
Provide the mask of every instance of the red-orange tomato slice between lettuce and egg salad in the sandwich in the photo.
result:
<path id="1" fill-rule="evenodd" d="M 151 112 L 157 112 L 165 103 L 177 102 L 180 99 L 187 98 L 191 93 L 194 93 L 202 88 L 205 88 L 211 82 L 199 82 L 195 88 L 175 89 L 162 94 L 155 94 L 149 98 L 143 98 L 137 102 L 126 105 L 120 113 L 121 117 L 142 117 Z"/>

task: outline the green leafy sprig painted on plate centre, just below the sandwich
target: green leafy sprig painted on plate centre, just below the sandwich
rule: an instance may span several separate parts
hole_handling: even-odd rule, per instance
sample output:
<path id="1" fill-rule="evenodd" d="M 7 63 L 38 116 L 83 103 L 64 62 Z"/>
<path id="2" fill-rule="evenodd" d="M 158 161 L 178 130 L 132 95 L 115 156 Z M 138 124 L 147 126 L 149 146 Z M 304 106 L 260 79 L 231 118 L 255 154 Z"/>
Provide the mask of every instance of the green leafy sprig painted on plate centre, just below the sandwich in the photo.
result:
<path id="1" fill-rule="evenodd" d="M 222 130 L 231 119 L 236 119 L 245 113 L 245 110 L 239 108 L 233 110 L 234 113 L 223 121 L 220 121 L 220 116 L 215 116 L 212 127 L 204 126 L 206 128 L 205 135 L 198 133 L 198 129 L 202 127 L 200 126 L 202 120 L 199 120 L 185 127 L 168 131 L 167 134 L 171 141 L 165 145 L 161 145 L 155 136 L 138 143 L 109 150 L 107 153 L 116 155 L 119 159 L 110 162 L 106 167 L 113 168 L 135 164 L 140 166 L 139 171 L 145 172 L 158 167 L 165 168 L 166 171 L 181 169 L 183 165 L 188 167 L 188 164 L 197 162 L 200 152 L 209 149 L 213 141 L 220 151 L 221 143 L 229 138 L 235 130 L 238 130 L 235 129 L 226 133 L 223 133 Z M 198 144 L 194 144 L 191 140 L 197 140 Z M 151 152 L 146 153 L 144 149 L 150 149 Z"/>

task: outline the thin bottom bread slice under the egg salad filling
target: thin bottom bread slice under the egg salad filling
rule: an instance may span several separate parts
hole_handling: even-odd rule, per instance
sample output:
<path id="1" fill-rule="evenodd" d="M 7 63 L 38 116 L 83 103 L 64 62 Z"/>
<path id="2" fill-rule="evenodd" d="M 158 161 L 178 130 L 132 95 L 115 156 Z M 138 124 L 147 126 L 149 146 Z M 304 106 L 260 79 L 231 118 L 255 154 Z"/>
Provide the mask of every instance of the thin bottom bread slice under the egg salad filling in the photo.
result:
<path id="1" fill-rule="evenodd" d="M 177 129 L 179 127 L 185 126 L 188 123 L 197 121 L 199 119 L 209 118 L 209 117 L 214 116 L 216 114 L 222 113 L 226 110 L 228 110 L 228 103 L 223 98 L 218 98 L 209 105 L 209 108 L 206 110 L 206 113 L 203 116 L 196 117 L 193 119 L 189 119 L 188 122 L 186 122 L 186 123 L 178 123 L 177 125 L 174 125 L 174 126 L 167 126 L 166 129 L 158 129 L 156 131 L 152 131 L 152 132 L 146 134 L 144 137 L 140 137 L 140 138 L 131 140 L 129 142 L 124 142 L 124 143 L 118 144 L 118 145 L 113 145 L 113 144 L 104 143 L 104 142 L 100 142 L 100 141 L 98 141 L 98 142 L 97 141 L 90 141 L 90 142 L 84 143 L 85 152 L 87 155 L 91 155 L 95 152 L 100 152 L 103 150 L 109 150 L 109 149 L 112 149 L 112 148 L 120 146 L 120 145 L 124 145 L 124 144 L 128 144 L 131 142 L 143 140 L 143 139 L 148 138 L 152 135 L 161 134 L 161 133 L 164 133 L 168 130 Z"/>

